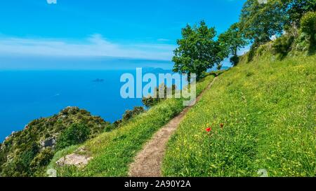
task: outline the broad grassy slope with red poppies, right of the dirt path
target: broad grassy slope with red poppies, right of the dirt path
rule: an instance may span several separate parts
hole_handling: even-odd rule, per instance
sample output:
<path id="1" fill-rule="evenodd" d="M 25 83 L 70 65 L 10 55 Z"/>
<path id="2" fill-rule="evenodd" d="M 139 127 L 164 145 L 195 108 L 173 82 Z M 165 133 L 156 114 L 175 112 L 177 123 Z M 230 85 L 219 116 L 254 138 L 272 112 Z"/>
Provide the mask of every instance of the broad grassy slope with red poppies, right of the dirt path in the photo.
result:
<path id="1" fill-rule="evenodd" d="M 316 176 L 315 92 L 316 56 L 239 64 L 187 113 L 164 175 Z"/>

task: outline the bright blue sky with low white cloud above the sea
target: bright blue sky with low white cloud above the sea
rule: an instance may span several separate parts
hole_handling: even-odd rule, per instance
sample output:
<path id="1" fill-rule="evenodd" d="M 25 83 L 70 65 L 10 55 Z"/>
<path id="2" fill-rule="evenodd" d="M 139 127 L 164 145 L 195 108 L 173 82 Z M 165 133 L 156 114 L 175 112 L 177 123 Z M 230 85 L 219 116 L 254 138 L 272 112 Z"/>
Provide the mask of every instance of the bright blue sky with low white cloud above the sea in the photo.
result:
<path id="1" fill-rule="evenodd" d="M 223 32 L 244 1 L 4 0 L 0 55 L 170 60 L 185 24 L 205 20 Z"/>

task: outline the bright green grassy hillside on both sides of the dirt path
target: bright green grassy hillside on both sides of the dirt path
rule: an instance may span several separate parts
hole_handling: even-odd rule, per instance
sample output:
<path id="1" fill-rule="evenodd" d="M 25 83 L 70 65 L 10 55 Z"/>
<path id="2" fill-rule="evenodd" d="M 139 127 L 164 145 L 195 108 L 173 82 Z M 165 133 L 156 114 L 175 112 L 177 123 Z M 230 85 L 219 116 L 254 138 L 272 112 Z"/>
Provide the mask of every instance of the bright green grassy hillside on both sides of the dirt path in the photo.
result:
<path id="1" fill-rule="evenodd" d="M 258 176 L 260 169 L 268 176 L 316 175 L 316 56 L 279 59 L 269 47 L 221 73 L 187 113 L 166 148 L 164 176 Z M 212 79 L 203 78 L 197 92 Z M 61 150 L 48 169 L 58 176 L 127 176 L 154 132 L 183 110 L 182 101 L 161 101 L 111 132 Z M 56 164 L 71 153 L 93 159 L 80 168 Z"/>

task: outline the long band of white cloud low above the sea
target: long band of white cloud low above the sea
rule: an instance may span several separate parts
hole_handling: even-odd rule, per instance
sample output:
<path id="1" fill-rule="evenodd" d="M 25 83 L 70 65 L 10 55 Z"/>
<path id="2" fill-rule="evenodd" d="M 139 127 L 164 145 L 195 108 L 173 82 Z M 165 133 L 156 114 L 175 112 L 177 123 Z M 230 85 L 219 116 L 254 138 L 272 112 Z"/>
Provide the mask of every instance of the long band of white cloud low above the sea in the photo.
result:
<path id="1" fill-rule="evenodd" d="M 94 34 L 81 42 L 47 38 L 0 37 L 0 55 L 44 55 L 66 57 L 128 57 L 170 60 L 175 45 L 121 44 Z"/>

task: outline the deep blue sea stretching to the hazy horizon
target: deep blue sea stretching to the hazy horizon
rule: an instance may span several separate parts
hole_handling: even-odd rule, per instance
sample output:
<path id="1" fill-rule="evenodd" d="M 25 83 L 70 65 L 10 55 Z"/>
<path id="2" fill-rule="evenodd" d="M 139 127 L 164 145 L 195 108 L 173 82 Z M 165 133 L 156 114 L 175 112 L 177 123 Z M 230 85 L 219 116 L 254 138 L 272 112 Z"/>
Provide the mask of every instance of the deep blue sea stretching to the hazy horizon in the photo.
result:
<path id="1" fill-rule="evenodd" d="M 28 62 L 26 62 L 27 60 Z M 121 74 L 169 71 L 171 62 L 129 59 L 50 60 L 0 58 L 0 141 L 30 121 L 78 106 L 114 122 L 141 99 L 122 99 Z M 78 64 L 76 64 L 78 63 Z M 99 79 L 99 80 L 96 80 Z"/>

